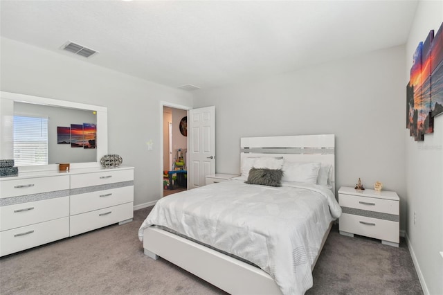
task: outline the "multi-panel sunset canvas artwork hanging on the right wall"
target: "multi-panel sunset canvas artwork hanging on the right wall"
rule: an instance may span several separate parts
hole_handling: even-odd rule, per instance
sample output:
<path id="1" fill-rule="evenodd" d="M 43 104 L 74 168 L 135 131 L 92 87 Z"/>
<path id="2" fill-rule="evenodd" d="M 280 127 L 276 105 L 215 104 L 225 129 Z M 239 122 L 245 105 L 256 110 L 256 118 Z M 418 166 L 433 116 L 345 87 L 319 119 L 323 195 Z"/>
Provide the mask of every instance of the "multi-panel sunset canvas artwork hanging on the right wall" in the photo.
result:
<path id="1" fill-rule="evenodd" d="M 433 118 L 443 111 L 443 24 L 431 30 L 413 56 L 406 87 L 406 127 L 415 141 L 433 133 Z"/>

